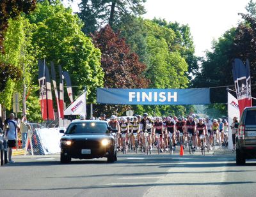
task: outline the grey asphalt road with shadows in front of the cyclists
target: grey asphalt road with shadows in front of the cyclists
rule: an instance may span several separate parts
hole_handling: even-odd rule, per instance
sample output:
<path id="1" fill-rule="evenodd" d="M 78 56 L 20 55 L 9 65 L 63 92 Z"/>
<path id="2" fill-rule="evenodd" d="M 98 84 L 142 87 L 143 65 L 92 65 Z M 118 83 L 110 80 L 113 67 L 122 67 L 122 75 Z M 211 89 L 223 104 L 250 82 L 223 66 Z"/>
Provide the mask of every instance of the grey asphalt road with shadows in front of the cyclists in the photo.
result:
<path id="1" fill-rule="evenodd" d="M 0 196 L 255 196 L 256 160 L 236 166 L 230 151 L 179 156 L 118 154 L 106 159 L 14 156 L 0 167 Z"/>

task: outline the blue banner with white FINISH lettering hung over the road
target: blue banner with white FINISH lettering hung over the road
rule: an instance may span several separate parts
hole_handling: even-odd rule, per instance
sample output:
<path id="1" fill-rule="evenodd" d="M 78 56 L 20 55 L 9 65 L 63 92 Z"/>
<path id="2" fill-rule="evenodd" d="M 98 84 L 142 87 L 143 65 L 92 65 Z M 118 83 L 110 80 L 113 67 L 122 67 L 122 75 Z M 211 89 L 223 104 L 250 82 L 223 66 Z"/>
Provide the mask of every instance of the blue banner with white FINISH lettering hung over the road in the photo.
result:
<path id="1" fill-rule="evenodd" d="M 97 103 L 120 105 L 207 105 L 210 90 L 97 88 Z"/>

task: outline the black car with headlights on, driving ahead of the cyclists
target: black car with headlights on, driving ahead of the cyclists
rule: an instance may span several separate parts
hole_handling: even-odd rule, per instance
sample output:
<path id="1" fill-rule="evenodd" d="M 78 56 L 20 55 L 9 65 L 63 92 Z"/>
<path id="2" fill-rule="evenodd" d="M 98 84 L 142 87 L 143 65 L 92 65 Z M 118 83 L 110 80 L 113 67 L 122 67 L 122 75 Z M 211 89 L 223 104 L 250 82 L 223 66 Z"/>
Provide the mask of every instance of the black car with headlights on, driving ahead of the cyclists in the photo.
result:
<path id="1" fill-rule="evenodd" d="M 116 157 L 116 129 L 102 120 L 74 120 L 60 140 L 60 162 L 70 163 L 72 158 L 93 159 L 107 157 L 109 163 Z"/>

